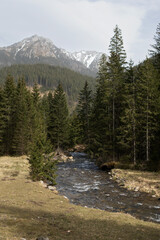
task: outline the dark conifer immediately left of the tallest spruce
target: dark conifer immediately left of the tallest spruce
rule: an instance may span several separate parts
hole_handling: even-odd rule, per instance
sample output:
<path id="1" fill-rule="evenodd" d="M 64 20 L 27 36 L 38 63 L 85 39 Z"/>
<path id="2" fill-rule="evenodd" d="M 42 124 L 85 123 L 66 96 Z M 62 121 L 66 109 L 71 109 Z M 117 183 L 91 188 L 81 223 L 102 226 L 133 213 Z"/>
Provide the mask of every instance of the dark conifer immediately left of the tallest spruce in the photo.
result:
<path id="1" fill-rule="evenodd" d="M 96 94 L 93 102 L 91 117 L 91 151 L 98 157 L 110 159 L 112 149 L 111 139 L 111 109 L 110 109 L 110 81 L 106 56 L 102 55 L 97 75 Z"/>

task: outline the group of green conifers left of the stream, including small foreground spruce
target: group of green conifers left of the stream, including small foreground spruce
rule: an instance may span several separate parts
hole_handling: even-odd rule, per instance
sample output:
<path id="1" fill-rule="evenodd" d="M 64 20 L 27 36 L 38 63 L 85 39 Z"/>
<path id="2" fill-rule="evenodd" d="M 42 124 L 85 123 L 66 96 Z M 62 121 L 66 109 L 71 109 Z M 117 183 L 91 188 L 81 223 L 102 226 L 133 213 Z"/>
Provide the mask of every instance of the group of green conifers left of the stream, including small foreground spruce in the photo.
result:
<path id="1" fill-rule="evenodd" d="M 31 176 L 55 183 L 57 148 L 68 144 L 68 108 L 62 85 L 54 94 L 40 96 L 38 84 L 33 91 L 23 78 L 17 84 L 8 76 L 0 88 L 0 154 L 28 155 Z"/>

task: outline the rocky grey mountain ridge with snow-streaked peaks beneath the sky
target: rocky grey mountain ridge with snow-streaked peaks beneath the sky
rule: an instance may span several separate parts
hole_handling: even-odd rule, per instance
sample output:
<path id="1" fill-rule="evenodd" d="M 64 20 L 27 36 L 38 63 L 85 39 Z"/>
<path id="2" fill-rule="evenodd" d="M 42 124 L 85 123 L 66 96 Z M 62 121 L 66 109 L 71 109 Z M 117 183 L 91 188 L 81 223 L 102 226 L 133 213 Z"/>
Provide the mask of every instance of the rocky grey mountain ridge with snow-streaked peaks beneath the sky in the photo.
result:
<path id="1" fill-rule="evenodd" d="M 49 64 L 66 67 L 83 75 L 95 76 L 102 53 L 70 53 L 44 37 L 34 35 L 8 47 L 0 48 L 0 67 L 14 64 Z"/>

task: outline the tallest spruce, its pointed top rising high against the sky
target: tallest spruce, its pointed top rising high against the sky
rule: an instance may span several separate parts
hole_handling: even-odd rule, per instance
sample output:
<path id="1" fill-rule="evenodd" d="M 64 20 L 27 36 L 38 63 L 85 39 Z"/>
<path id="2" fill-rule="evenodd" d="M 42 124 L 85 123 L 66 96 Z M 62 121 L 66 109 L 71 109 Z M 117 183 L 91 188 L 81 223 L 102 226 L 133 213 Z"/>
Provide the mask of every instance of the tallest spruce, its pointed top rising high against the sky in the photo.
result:
<path id="1" fill-rule="evenodd" d="M 123 47 L 123 39 L 121 30 L 116 25 L 114 36 L 111 38 L 109 46 L 110 56 L 108 59 L 108 78 L 111 81 L 111 102 L 112 102 L 112 145 L 113 145 L 113 161 L 119 156 L 118 151 L 118 129 L 120 126 L 120 116 L 123 112 L 123 97 L 125 83 L 125 65 L 126 53 Z"/>

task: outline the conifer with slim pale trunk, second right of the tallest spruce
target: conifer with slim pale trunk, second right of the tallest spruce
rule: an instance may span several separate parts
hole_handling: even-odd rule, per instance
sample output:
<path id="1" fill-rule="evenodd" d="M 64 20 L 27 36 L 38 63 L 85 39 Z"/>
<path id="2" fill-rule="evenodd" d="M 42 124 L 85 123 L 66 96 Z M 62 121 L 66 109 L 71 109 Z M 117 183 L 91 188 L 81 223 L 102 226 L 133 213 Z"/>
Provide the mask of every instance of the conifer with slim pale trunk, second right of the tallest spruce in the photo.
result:
<path id="1" fill-rule="evenodd" d="M 151 160 L 151 146 L 157 129 L 159 113 L 159 93 L 157 73 L 149 59 L 139 67 L 137 83 L 139 159 Z"/>

